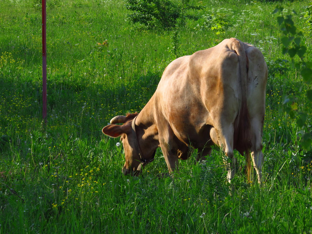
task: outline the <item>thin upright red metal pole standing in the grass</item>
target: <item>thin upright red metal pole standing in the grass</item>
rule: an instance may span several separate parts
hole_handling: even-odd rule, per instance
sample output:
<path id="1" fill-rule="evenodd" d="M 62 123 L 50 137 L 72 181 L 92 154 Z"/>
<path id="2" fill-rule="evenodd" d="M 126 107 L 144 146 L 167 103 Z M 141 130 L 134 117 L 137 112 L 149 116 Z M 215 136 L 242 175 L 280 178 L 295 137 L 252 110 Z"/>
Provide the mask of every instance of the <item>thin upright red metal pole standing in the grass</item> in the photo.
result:
<path id="1" fill-rule="evenodd" d="M 42 0 L 42 118 L 46 123 L 46 0 Z"/>

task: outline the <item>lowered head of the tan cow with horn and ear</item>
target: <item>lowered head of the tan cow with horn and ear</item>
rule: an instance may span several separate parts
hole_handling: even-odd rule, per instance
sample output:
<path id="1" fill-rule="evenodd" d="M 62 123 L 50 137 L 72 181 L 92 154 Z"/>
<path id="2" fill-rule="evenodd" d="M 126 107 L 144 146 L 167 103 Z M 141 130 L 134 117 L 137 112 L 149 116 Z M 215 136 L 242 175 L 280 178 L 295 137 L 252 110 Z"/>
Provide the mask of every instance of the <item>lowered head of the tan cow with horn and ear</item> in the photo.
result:
<path id="1" fill-rule="evenodd" d="M 110 120 L 110 124 L 102 129 L 102 132 L 110 137 L 116 138 L 120 136 L 120 141 L 122 142 L 124 147 L 124 156 L 126 160 L 126 162 L 124 163 L 124 167 L 122 168 L 122 172 L 124 173 L 124 175 L 139 175 L 142 165 L 144 166 L 146 163 L 149 162 L 145 161 L 145 159 L 142 158 L 141 150 L 144 150 L 144 153 L 147 157 L 154 158 L 154 152 L 151 152 L 150 149 L 140 149 L 139 144 L 141 144 L 141 147 L 143 147 L 143 140 L 142 138 L 138 139 L 135 125 L 133 123 L 133 120 L 137 115 L 138 113 L 128 114 L 127 116 L 115 116 L 113 119 Z M 119 125 L 117 123 L 122 123 L 122 125 Z"/>

